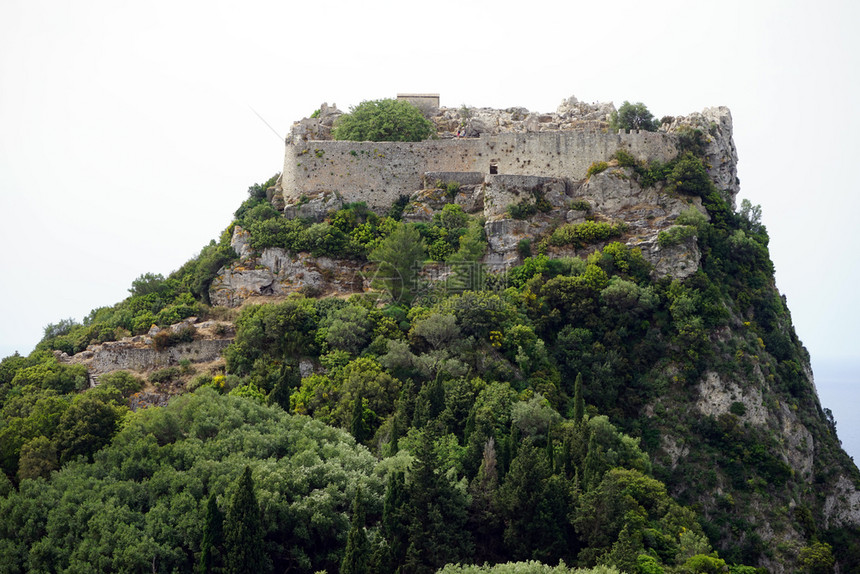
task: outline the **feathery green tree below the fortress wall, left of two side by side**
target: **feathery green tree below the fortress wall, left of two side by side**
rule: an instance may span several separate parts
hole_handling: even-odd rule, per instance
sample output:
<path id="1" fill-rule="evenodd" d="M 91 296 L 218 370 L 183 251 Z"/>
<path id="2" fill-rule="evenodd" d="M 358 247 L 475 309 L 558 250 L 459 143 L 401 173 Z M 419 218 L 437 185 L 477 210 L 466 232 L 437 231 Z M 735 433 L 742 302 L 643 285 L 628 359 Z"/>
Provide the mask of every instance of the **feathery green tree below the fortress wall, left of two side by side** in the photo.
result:
<path id="1" fill-rule="evenodd" d="M 411 304 L 418 290 L 418 273 L 427 258 L 418 230 L 401 223 L 367 258 L 379 263 L 375 286 L 388 291 L 395 303 Z"/>

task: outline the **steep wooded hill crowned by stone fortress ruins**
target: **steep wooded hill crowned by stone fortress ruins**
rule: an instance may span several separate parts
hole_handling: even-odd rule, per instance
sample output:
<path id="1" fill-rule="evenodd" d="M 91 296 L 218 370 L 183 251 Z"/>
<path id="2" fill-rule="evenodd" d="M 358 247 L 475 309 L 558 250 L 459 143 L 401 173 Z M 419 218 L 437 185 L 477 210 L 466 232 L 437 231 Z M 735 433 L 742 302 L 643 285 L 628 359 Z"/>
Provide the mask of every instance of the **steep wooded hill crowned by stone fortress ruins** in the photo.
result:
<path id="1" fill-rule="evenodd" d="M 6 569 L 860 567 L 727 108 L 344 116 L 181 269 L 3 360 Z"/>

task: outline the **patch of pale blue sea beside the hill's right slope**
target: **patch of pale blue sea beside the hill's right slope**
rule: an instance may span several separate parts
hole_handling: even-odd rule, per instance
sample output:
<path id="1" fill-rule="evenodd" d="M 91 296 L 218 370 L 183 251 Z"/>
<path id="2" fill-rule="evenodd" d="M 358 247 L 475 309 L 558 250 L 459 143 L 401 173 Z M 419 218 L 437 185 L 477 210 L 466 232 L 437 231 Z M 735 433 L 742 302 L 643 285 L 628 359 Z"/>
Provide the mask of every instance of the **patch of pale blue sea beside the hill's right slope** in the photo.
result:
<path id="1" fill-rule="evenodd" d="M 860 464 L 860 359 L 812 358 L 821 407 L 833 411 L 842 448 Z"/>

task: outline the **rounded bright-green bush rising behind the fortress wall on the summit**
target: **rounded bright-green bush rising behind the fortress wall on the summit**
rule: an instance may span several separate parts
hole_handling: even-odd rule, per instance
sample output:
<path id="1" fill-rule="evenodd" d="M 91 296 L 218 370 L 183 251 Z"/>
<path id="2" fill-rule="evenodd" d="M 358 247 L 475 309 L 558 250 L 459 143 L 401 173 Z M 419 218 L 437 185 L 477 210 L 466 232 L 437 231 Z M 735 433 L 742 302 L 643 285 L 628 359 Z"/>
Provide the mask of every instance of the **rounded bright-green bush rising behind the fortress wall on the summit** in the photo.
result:
<path id="1" fill-rule="evenodd" d="M 332 130 L 336 140 L 407 141 L 426 140 L 435 127 L 421 111 L 403 100 L 366 100 L 338 118 Z"/>

